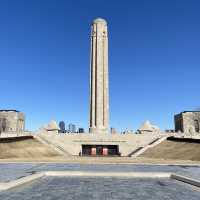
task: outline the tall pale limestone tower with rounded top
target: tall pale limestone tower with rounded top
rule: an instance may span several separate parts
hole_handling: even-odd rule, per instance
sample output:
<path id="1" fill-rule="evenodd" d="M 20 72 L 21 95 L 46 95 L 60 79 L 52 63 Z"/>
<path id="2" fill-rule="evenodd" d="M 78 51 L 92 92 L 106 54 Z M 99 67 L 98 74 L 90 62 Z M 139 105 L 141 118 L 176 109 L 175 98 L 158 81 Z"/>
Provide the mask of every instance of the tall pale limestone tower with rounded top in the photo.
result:
<path id="1" fill-rule="evenodd" d="M 91 27 L 90 55 L 90 133 L 108 133 L 108 30 L 104 19 L 97 18 Z"/>

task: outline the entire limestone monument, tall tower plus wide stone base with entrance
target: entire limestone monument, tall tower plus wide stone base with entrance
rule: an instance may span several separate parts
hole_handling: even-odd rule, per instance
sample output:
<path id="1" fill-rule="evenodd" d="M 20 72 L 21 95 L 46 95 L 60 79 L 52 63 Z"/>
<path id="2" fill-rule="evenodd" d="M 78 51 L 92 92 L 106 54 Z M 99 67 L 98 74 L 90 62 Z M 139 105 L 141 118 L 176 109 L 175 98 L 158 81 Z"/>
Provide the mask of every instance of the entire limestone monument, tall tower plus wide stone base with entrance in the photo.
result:
<path id="1" fill-rule="evenodd" d="M 155 131 L 158 127 L 149 122 L 144 124 L 142 130 L 154 131 L 154 134 L 133 134 L 132 131 L 110 134 L 108 32 L 104 19 L 98 18 L 92 23 L 90 61 L 89 134 L 76 134 L 75 131 L 71 134 L 52 134 L 57 133 L 57 126 L 51 123 L 51 129 L 41 128 L 37 132 L 45 143 L 57 146 L 73 156 L 132 156 L 135 150 L 168 136 Z M 112 128 L 111 133 L 115 132 Z"/>

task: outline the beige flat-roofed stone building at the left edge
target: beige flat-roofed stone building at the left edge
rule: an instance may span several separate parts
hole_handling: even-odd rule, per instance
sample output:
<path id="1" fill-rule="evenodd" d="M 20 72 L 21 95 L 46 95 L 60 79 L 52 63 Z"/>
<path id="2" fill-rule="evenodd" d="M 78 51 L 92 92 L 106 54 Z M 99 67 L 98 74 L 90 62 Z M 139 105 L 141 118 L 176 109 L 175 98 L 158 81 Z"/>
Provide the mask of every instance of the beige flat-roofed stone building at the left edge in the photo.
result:
<path id="1" fill-rule="evenodd" d="M 24 130 L 24 113 L 17 110 L 0 110 L 0 132 L 21 132 Z"/>

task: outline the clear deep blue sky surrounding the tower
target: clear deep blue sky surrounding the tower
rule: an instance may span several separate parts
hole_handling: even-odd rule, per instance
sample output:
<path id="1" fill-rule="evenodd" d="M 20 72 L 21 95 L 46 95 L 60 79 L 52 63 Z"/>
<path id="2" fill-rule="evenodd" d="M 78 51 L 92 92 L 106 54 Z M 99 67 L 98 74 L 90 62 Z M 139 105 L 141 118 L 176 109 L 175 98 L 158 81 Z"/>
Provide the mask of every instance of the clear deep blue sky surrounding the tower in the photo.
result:
<path id="1" fill-rule="evenodd" d="M 200 1 L 1 0 L 0 108 L 26 114 L 35 130 L 51 119 L 88 128 L 90 25 L 108 21 L 110 125 L 200 107 Z"/>

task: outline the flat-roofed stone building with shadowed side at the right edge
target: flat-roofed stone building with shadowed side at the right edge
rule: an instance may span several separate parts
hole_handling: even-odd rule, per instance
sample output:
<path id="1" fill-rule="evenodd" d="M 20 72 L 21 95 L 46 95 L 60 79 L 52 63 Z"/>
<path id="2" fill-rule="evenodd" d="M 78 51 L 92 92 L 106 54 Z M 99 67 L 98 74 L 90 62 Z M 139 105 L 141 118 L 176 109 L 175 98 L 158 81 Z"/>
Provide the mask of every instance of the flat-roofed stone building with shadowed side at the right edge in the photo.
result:
<path id="1" fill-rule="evenodd" d="M 200 111 L 184 111 L 174 116 L 175 131 L 200 133 Z"/>

